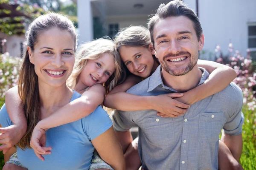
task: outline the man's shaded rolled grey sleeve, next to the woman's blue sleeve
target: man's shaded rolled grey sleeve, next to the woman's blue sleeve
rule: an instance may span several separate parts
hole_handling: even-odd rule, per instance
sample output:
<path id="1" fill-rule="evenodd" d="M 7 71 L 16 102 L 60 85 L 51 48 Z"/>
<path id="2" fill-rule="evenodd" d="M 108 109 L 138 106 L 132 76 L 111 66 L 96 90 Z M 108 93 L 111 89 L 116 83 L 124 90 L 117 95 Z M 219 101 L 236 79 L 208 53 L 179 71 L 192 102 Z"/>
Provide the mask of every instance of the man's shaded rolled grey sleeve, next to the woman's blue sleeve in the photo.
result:
<path id="1" fill-rule="evenodd" d="M 119 132 L 125 132 L 136 125 L 131 119 L 131 112 L 114 110 L 110 117 L 114 130 Z"/>

